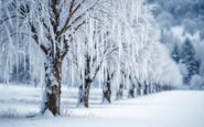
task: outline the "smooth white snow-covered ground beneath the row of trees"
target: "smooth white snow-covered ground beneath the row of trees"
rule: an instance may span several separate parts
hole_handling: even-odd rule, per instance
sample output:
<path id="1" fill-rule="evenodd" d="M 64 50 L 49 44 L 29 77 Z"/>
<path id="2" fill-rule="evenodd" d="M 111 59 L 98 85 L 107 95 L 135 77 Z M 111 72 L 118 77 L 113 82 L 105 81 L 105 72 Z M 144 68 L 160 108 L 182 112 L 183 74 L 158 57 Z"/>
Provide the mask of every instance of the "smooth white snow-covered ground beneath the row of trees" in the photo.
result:
<path id="1" fill-rule="evenodd" d="M 42 89 L 0 85 L 0 127 L 204 127 L 204 92 L 162 92 L 100 104 L 92 89 L 90 108 L 75 108 L 77 91 L 63 88 L 63 116 L 30 117 L 40 109 Z"/>

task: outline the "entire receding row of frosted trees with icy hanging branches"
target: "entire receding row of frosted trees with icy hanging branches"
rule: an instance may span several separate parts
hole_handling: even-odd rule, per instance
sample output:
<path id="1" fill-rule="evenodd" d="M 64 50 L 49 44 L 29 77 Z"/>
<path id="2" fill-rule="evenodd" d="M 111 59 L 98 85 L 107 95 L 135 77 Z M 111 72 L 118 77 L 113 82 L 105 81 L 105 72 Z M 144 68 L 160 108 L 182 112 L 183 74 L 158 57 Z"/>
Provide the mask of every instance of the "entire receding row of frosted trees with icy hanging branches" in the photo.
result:
<path id="1" fill-rule="evenodd" d="M 78 106 L 85 107 L 93 84 L 103 84 L 103 100 L 111 103 L 112 88 L 120 99 L 124 88 L 135 97 L 181 83 L 143 1 L 8 0 L 0 6 L 1 78 L 10 82 L 19 71 L 43 84 L 42 114 L 60 115 L 62 82 L 78 86 Z"/>

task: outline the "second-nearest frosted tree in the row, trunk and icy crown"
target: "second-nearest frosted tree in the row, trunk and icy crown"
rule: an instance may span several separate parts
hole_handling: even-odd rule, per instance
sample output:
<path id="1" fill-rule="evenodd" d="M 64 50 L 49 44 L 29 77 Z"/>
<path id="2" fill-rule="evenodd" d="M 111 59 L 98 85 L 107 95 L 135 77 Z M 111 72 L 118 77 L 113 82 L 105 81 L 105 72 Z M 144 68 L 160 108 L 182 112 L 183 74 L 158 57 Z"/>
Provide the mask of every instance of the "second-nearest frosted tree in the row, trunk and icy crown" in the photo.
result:
<path id="1" fill-rule="evenodd" d="M 105 21 L 104 21 L 105 22 Z M 77 53 L 79 72 L 82 75 L 82 85 L 79 86 L 78 105 L 88 107 L 88 96 L 92 83 L 105 63 L 114 62 L 117 46 L 110 40 L 111 32 L 108 25 L 101 21 L 89 18 L 85 25 L 84 43 L 78 43 L 80 51 Z"/>

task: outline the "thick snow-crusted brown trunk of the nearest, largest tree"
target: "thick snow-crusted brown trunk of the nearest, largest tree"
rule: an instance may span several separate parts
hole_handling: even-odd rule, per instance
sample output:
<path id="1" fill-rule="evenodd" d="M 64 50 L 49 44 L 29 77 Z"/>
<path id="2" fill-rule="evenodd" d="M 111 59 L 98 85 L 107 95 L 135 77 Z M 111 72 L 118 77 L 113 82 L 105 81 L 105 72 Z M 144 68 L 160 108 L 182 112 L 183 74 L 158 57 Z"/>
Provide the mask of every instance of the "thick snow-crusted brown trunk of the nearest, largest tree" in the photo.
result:
<path id="1" fill-rule="evenodd" d="M 49 109 L 54 116 L 60 115 L 61 107 L 61 80 L 62 60 L 61 57 L 46 56 L 45 66 L 45 89 L 41 113 Z"/>

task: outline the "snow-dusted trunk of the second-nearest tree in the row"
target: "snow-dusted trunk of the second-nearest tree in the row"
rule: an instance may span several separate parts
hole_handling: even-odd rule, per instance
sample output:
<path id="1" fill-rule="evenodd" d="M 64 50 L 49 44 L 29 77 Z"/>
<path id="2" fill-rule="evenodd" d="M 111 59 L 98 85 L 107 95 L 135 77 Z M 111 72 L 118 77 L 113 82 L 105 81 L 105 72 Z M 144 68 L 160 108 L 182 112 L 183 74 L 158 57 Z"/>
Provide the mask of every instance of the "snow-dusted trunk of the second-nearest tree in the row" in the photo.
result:
<path id="1" fill-rule="evenodd" d="M 85 85 L 80 85 L 78 89 L 78 104 L 77 106 L 83 105 L 84 107 L 88 107 L 88 98 L 89 98 L 89 89 L 90 89 L 92 80 L 86 78 Z"/>

